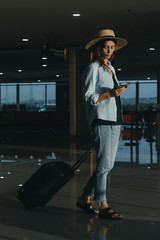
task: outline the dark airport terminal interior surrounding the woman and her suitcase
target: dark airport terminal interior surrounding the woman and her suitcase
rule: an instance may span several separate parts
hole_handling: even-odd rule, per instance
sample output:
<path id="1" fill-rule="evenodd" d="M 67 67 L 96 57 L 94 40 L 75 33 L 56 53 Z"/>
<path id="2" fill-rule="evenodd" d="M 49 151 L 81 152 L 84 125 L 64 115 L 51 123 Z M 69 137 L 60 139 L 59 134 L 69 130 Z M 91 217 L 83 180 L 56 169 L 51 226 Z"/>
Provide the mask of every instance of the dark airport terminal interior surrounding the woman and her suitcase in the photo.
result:
<path id="1" fill-rule="evenodd" d="M 159 0 L 1 0 L 0 12 L 0 240 L 158 240 Z M 76 206 L 96 166 L 81 78 L 91 59 L 85 46 L 101 29 L 128 41 L 113 61 L 119 82 L 130 85 L 107 179 L 121 220 Z M 29 209 L 17 198 L 44 164 L 74 166 L 88 149 L 47 204 Z"/>

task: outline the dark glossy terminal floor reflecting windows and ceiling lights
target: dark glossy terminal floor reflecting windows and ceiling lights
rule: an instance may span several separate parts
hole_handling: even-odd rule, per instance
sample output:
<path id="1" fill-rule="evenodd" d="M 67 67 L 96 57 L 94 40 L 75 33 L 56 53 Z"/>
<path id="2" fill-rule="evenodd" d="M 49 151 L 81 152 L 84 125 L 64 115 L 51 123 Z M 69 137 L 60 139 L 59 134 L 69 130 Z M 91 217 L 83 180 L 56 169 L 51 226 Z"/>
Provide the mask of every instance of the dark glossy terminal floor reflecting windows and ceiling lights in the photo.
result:
<path id="1" fill-rule="evenodd" d="M 123 220 L 88 215 L 75 203 L 94 171 L 95 153 L 46 205 L 29 211 L 16 199 L 20 186 L 48 161 L 73 164 L 90 144 L 87 137 L 9 132 L 0 137 L 0 240 L 158 240 L 160 157 L 155 128 L 122 128 L 108 200 Z"/>

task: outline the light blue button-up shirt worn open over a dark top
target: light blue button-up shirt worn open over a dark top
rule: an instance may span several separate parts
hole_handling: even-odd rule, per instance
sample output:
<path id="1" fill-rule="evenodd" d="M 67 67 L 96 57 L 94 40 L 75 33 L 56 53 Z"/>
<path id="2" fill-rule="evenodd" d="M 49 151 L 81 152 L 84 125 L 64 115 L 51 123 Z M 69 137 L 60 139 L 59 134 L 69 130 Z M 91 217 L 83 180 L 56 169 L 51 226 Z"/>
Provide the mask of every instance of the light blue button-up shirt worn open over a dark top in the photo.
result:
<path id="1" fill-rule="evenodd" d="M 108 61 L 109 62 L 109 61 Z M 118 83 L 115 69 L 109 62 L 109 67 Z M 117 106 L 114 97 L 97 102 L 99 94 L 114 88 L 112 75 L 107 67 L 101 66 L 97 61 L 85 69 L 82 76 L 83 97 L 86 105 L 86 114 L 89 125 L 94 119 L 107 121 L 117 120 Z M 119 85 L 119 83 L 118 83 Z"/>

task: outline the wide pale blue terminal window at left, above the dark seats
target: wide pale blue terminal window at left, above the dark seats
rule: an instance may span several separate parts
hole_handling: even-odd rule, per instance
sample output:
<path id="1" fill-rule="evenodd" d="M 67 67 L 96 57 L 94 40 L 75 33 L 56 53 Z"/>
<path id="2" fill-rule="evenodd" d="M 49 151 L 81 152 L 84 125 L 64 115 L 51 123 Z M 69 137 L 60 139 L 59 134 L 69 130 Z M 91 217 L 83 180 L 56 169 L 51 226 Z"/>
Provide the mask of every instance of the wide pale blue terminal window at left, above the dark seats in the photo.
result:
<path id="1" fill-rule="evenodd" d="M 0 100 L 1 111 L 55 111 L 56 83 L 2 83 Z"/>

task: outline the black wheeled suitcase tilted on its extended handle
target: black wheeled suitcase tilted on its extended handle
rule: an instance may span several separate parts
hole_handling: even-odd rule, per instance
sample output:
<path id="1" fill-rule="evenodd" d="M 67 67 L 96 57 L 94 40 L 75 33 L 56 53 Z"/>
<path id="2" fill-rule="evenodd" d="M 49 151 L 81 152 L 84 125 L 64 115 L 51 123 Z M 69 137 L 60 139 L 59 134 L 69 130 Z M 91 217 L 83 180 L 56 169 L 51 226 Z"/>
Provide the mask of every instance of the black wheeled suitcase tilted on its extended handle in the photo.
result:
<path id="1" fill-rule="evenodd" d="M 16 197 L 29 210 L 45 206 L 75 175 L 92 151 L 93 146 L 72 167 L 64 161 L 45 163 L 23 184 Z"/>

